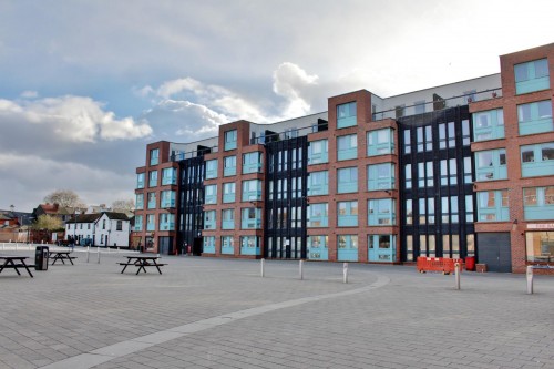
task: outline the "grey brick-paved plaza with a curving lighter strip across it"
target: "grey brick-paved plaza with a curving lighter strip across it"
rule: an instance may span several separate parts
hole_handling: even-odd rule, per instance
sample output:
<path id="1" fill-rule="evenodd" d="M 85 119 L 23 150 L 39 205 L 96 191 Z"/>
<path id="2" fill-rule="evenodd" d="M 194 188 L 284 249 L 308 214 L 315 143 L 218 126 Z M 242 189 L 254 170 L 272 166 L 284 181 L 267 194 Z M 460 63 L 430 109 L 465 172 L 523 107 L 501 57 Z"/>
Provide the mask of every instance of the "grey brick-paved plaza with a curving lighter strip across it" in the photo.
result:
<path id="1" fill-rule="evenodd" d="M 33 250 L 1 252 L 28 255 Z M 0 274 L 0 368 L 554 368 L 554 277 L 125 254 Z"/>

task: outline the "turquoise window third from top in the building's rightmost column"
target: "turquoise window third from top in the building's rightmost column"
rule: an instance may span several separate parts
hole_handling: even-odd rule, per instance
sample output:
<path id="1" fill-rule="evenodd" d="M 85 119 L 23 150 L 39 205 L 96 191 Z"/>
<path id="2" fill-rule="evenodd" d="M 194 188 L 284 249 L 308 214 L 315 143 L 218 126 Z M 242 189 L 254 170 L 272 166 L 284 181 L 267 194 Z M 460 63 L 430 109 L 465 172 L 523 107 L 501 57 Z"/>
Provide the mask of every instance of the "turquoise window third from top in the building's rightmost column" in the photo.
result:
<path id="1" fill-rule="evenodd" d="M 521 146 L 522 176 L 554 175 L 554 142 Z"/>

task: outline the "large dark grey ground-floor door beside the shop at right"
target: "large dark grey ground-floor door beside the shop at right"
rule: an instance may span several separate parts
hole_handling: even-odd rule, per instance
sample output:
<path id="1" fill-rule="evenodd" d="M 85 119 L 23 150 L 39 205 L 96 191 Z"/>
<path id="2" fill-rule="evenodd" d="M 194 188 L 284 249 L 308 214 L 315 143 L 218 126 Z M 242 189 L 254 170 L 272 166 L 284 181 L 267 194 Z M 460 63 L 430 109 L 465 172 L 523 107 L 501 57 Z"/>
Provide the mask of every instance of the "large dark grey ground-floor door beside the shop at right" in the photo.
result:
<path id="1" fill-rule="evenodd" d="M 489 271 L 512 273 L 510 233 L 478 233 L 478 263 Z"/>

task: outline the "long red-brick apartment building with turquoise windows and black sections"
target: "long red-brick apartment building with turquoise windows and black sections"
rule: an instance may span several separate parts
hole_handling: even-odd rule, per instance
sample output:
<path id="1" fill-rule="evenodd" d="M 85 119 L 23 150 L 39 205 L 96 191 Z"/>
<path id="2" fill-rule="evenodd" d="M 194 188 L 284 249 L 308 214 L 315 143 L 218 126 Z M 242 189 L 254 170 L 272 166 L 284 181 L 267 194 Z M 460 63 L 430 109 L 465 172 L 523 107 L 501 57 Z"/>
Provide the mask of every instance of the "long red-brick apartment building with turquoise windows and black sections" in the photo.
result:
<path id="1" fill-rule="evenodd" d="M 156 142 L 138 167 L 134 246 L 361 263 L 554 263 L 554 44 L 501 72 L 328 111 Z"/>

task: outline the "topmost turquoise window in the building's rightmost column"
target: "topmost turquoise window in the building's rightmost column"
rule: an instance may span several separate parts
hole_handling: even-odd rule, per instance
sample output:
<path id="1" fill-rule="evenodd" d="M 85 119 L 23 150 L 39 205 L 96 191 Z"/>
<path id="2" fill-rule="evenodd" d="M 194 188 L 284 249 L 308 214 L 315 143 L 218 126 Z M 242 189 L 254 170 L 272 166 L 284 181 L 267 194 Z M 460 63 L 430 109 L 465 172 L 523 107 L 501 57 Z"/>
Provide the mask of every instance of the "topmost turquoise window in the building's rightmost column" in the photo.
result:
<path id="1" fill-rule="evenodd" d="M 530 93 L 550 89 L 547 59 L 514 65 L 515 93 Z"/>

